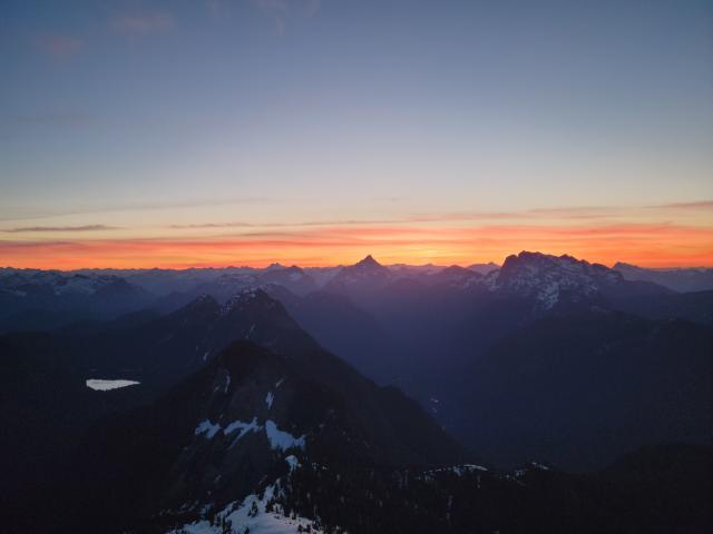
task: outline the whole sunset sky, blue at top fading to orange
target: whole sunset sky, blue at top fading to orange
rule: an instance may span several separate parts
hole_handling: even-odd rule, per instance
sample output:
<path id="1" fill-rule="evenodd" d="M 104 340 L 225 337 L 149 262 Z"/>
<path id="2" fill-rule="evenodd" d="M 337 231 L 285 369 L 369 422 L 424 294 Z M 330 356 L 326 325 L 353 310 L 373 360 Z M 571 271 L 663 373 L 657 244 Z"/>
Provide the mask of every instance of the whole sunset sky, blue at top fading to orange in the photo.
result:
<path id="1" fill-rule="evenodd" d="M 4 0 L 0 266 L 713 266 L 713 2 Z"/>

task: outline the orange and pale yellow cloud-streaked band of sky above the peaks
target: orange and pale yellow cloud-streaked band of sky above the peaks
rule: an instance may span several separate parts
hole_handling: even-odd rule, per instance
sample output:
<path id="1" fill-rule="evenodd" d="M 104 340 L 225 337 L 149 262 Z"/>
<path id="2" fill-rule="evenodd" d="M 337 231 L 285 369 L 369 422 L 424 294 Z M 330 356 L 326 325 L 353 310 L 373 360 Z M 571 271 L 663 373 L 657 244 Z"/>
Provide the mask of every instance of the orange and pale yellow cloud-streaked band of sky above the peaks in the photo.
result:
<path id="1" fill-rule="evenodd" d="M 713 265 L 713 221 L 706 208 L 705 202 L 695 202 L 431 214 L 392 220 L 8 227 L 0 230 L 0 257 L 13 267 L 67 269 L 264 266 L 273 261 L 324 266 L 352 263 L 368 253 L 387 263 L 469 265 L 501 261 L 528 249 L 608 265 L 621 260 L 651 267 L 704 266 Z"/>

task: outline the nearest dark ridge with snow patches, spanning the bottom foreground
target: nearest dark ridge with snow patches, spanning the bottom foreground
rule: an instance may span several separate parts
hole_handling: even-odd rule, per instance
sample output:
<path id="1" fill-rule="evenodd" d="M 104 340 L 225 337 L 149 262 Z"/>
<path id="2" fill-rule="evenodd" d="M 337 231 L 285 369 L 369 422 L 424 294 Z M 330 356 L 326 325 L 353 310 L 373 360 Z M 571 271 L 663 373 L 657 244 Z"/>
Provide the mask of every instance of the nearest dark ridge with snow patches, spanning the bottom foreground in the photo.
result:
<path id="1" fill-rule="evenodd" d="M 374 389 L 373 393 L 378 393 Z M 712 451 L 671 445 L 569 475 L 463 464 L 399 394 L 375 412 L 247 342 L 97 423 L 33 532 L 664 533 L 711 526 Z M 379 413 L 382 412 L 382 413 Z M 12 532 L 12 531 L 11 531 Z"/>

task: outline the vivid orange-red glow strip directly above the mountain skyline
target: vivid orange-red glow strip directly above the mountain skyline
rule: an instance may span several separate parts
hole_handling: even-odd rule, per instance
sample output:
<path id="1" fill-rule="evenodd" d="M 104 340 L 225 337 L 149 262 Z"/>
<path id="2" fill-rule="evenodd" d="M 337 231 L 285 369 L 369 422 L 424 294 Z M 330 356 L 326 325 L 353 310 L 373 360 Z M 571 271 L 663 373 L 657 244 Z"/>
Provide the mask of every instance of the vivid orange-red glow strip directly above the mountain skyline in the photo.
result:
<path id="1" fill-rule="evenodd" d="M 215 237 L 0 240 L 0 265 L 18 268 L 189 268 L 501 263 L 520 250 L 643 267 L 713 266 L 713 228 L 611 226 L 326 227 Z"/>

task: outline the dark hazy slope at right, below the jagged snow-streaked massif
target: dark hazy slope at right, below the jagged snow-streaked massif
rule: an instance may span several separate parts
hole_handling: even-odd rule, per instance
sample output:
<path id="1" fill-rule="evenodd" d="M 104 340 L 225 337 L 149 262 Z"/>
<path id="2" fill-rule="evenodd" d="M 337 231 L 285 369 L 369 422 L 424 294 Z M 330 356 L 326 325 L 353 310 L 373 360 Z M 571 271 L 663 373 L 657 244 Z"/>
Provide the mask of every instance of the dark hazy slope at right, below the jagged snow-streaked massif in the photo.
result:
<path id="1" fill-rule="evenodd" d="M 548 317 L 473 362 L 456 434 L 500 464 L 526 455 L 570 469 L 648 443 L 713 443 L 712 374 L 709 328 L 611 312 Z"/>

